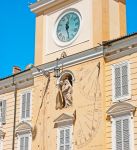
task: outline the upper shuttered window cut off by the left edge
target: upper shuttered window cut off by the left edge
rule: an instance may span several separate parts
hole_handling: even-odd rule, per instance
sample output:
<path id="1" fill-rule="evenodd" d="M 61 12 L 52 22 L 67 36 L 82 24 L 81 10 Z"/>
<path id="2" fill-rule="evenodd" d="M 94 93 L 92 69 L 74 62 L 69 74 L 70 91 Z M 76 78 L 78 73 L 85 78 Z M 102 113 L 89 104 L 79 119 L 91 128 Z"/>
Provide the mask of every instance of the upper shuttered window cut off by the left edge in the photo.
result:
<path id="1" fill-rule="evenodd" d="M 6 100 L 0 101 L 0 123 L 6 123 Z"/>

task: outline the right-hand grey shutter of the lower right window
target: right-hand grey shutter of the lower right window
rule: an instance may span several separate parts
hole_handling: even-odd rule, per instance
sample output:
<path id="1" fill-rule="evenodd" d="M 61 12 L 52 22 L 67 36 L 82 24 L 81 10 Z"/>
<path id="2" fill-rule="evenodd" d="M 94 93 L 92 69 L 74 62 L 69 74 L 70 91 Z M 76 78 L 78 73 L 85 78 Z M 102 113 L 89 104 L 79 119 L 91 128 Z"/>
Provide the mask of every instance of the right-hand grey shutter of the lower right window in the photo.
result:
<path id="1" fill-rule="evenodd" d="M 124 119 L 123 120 L 123 149 L 124 150 L 129 150 L 130 145 L 129 145 L 129 119 Z"/>

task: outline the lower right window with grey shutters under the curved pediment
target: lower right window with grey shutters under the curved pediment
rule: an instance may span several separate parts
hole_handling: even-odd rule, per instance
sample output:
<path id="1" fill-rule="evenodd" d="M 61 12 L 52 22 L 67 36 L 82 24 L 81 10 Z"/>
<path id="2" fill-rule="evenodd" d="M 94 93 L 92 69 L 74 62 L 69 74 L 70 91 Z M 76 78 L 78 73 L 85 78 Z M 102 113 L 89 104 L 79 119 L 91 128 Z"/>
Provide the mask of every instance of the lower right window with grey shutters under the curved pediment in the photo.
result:
<path id="1" fill-rule="evenodd" d="M 113 150 L 132 149 L 132 126 L 131 116 L 124 116 L 113 119 Z"/>

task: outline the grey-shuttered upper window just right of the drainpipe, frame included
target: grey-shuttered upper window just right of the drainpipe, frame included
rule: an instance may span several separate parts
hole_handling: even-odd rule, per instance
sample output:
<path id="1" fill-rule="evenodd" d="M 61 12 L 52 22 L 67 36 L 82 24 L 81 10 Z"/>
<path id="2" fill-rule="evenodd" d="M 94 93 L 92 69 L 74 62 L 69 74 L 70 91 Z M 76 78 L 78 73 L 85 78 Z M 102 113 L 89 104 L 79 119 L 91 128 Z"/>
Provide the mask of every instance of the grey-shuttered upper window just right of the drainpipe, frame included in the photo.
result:
<path id="1" fill-rule="evenodd" d="M 21 98 L 21 120 L 30 119 L 31 116 L 31 92 L 22 94 Z"/>

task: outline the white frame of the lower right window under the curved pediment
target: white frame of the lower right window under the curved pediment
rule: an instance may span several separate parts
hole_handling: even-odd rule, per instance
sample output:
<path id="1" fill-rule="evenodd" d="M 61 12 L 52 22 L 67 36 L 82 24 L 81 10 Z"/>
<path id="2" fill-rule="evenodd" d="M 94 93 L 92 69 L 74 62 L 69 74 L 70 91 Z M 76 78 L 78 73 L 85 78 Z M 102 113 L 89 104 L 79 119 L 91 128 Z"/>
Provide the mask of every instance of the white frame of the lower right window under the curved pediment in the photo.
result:
<path id="1" fill-rule="evenodd" d="M 134 149 L 134 126 L 133 126 L 133 116 L 132 115 L 124 115 L 124 116 L 119 116 L 116 118 L 112 118 L 112 150 L 117 150 L 116 149 L 116 121 L 118 120 L 124 120 L 128 119 L 129 120 L 129 133 L 130 133 L 130 149 Z M 122 131 L 123 132 L 123 131 Z M 122 145 L 123 145 L 123 138 L 122 138 Z"/>

